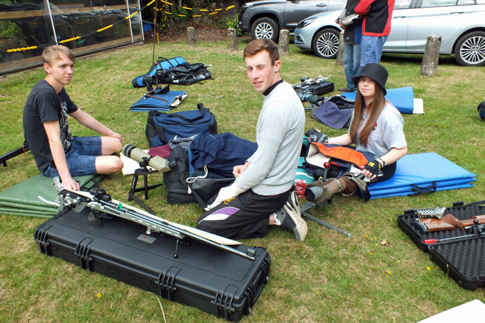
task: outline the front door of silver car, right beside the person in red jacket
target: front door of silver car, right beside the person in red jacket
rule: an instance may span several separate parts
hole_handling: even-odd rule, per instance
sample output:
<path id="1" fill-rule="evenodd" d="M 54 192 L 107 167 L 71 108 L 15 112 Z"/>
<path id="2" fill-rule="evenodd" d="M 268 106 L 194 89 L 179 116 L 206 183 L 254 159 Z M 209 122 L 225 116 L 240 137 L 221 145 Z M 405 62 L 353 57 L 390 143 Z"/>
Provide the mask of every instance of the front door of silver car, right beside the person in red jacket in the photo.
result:
<path id="1" fill-rule="evenodd" d="M 403 52 L 406 50 L 409 17 L 412 15 L 416 0 L 396 0 L 392 12 L 391 33 L 382 50 L 385 52 Z"/>

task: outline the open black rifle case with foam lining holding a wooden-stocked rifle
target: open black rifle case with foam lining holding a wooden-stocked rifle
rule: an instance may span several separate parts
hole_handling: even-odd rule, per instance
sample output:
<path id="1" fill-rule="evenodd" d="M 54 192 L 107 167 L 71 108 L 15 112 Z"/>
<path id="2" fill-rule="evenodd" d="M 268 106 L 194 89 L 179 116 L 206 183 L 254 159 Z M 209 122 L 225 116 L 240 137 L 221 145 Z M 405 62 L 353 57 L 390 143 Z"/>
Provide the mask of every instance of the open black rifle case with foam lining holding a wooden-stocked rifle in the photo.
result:
<path id="1" fill-rule="evenodd" d="M 485 232 L 477 230 L 479 225 L 473 225 L 468 231 L 455 228 L 422 233 L 413 224 L 415 211 L 405 210 L 403 215 L 398 216 L 399 228 L 418 248 L 428 252 L 432 261 L 459 286 L 469 290 L 485 286 Z M 452 207 L 446 208 L 444 214 L 452 214 L 460 221 L 469 220 L 485 214 L 485 201 L 466 205 L 463 201 L 455 202 Z"/>

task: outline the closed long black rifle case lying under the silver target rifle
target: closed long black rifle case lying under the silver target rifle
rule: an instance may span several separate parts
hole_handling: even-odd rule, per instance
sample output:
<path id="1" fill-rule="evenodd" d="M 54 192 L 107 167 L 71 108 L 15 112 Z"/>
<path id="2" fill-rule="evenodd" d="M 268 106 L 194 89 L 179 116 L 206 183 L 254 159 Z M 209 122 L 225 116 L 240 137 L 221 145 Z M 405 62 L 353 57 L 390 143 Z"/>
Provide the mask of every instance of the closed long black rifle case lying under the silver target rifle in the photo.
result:
<path id="1" fill-rule="evenodd" d="M 94 227 L 88 214 L 88 207 L 67 210 L 35 228 L 40 252 L 232 322 L 251 313 L 267 284 L 271 259 L 263 248 L 254 248 L 252 260 L 186 238 L 175 258 L 177 238 L 148 235 L 145 226 L 117 216 Z"/>

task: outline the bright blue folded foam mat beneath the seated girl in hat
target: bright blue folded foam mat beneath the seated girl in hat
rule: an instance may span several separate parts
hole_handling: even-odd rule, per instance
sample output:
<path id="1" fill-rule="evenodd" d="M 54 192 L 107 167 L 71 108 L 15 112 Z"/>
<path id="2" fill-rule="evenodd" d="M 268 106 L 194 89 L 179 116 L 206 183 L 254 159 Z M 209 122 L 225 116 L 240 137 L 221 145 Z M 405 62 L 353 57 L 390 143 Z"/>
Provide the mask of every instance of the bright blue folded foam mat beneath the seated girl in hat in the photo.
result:
<path id="1" fill-rule="evenodd" d="M 371 199 L 416 194 L 416 188 L 439 192 L 473 187 L 476 175 L 436 154 L 411 154 L 400 158 L 396 173 L 387 181 L 367 185 Z"/>

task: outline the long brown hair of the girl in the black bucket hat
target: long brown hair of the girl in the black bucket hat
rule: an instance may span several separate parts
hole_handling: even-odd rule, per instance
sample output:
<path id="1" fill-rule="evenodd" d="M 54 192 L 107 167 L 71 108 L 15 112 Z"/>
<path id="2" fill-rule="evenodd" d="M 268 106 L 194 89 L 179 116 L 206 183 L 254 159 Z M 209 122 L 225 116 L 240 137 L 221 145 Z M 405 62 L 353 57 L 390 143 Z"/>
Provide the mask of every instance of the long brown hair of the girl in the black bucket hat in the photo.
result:
<path id="1" fill-rule="evenodd" d="M 371 136 L 371 131 L 373 131 L 374 129 L 374 124 L 376 124 L 377 118 L 379 118 L 379 115 L 384 109 L 387 101 L 384 97 L 384 90 L 382 89 L 382 87 L 378 84 L 378 82 L 374 82 L 374 84 L 376 86 L 376 91 L 374 91 L 374 98 L 367 107 L 367 109 L 365 107 L 364 96 L 362 95 L 362 93 L 360 93 L 359 90 L 357 91 L 357 94 L 355 95 L 355 109 L 353 111 L 353 119 L 349 131 L 349 135 L 351 136 L 352 141 L 357 143 L 357 129 L 362 122 L 362 116 L 365 109 L 367 115 L 369 115 L 369 118 L 367 118 L 366 124 L 364 124 L 362 131 L 360 131 L 360 136 L 358 140 L 358 142 L 360 142 L 360 145 L 364 147 L 367 147 L 367 140 L 369 140 L 369 136 Z M 359 87 L 357 87 L 357 89 L 359 89 Z"/>

